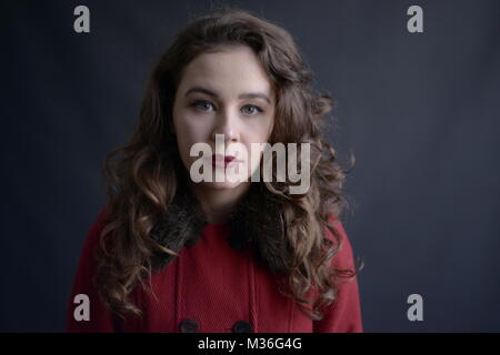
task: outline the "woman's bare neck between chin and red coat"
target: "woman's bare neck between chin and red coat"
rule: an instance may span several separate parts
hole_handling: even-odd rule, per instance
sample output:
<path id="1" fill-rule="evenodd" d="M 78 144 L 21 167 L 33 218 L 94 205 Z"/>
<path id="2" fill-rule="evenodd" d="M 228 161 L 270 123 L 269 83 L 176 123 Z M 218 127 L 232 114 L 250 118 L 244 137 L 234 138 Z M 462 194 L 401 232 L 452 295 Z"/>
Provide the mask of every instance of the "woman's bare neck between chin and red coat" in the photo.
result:
<path id="1" fill-rule="evenodd" d="M 190 189 L 200 201 L 201 209 L 210 224 L 226 223 L 234 206 L 250 189 L 250 182 L 244 182 L 233 189 L 210 189 L 202 184 L 190 182 Z"/>

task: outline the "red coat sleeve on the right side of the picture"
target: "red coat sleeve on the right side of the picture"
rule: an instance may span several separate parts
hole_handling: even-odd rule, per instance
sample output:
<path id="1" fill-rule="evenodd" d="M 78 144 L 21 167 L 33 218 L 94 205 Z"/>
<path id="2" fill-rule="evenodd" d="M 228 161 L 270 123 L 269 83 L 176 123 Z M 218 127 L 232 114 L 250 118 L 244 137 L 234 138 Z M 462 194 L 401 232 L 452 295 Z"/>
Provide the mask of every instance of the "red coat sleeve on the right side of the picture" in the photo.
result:
<path id="1" fill-rule="evenodd" d="M 342 223 L 338 217 L 331 217 L 329 223 L 341 236 L 341 248 L 333 257 L 332 264 L 337 268 L 354 270 L 352 246 L 343 230 Z M 330 239 L 333 237 L 330 231 L 326 233 Z M 361 333 L 363 329 L 357 277 L 341 278 L 341 284 L 338 284 L 337 287 L 339 288 L 336 302 L 327 307 L 321 321 L 313 322 L 313 332 Z"/>

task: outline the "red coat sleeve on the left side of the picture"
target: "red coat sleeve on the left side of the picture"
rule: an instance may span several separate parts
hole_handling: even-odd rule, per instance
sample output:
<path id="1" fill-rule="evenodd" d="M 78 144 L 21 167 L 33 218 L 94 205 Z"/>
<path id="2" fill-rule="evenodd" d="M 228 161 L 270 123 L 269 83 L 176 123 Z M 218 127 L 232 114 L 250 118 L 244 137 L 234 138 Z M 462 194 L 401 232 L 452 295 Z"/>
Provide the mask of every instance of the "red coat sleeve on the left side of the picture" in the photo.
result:
<path id="1" fill-rule="evenodd" d="M 106 215 L 106 207 L 99 213 L 97 221 L 90 227 L 83 243 L 83 250 L 80 255 L 78 270 L 76 273 L 71 296 L 68 303 L 68 316 L 66 331 L 71 333 L 78 332 L 114 332 L 113 317 L 111 312 L 106 310 L 100 301 L 97 288 L 93 284 L 93 275 L 96 273 L 94 250 L 99 246 L 100 233 L 103 227 L 102 221 Z M 90 320 L 77 321 L 74 316 L 76 310 L 83 304 L 82 301 L 74 303 L 74 297 L 79 294 L 88 296 Z M 81 313 L 81 307 L 77 313 Z"/>

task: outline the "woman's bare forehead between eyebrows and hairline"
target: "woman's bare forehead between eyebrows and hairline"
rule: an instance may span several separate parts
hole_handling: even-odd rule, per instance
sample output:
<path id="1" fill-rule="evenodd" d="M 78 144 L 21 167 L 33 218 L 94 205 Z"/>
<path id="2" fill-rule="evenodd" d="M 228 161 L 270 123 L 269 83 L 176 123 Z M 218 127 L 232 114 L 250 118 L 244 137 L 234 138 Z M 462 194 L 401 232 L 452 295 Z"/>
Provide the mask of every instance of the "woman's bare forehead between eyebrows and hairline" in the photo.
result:
<path id="1" fill-rule="evenodd" d="M 228 97 L 243 91 L 273 92 L 262 64 L 248 47 L 198 55 L 186 67 L 179 89 L 186 91 L 192 85 L 209 87 Z"/>

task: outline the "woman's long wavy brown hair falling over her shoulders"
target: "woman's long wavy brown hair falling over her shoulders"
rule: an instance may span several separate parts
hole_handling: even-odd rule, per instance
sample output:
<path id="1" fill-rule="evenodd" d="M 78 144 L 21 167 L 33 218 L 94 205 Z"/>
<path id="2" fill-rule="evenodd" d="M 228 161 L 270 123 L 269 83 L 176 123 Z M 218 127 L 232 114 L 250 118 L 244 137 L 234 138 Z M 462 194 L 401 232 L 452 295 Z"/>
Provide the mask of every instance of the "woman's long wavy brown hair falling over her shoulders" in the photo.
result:
<path id="1" fill-rule="evenodd" d="M 290 194 L 289 181 L 258 183 L 277 202 L 266 214 L 278 216 L 279 230 L 276 239 L 258 240 L 261 258 L 271 271 L 286 276 L 280 292 L 293 297 L 311 320 L 320 320 L 324 307 L 336 301 L 338 278 L 357 274 L 356 270 L 334 268 L 331 263 L 340 247 L 340 234 L 329 219 L 349 205 L 342 195 L 348 171 L 339 165 L 334 149 L 322 136 L 333 99 L 314 95 L 312 72 L 286 30 L 248 11 L 224 9 L 194 19 L 179 33 L 152 71 L 130 142 L 104 160 L 108 213 L 100 235 L 97 283 L 103 303 L 122 317 L 126 313 L 141 315 L 131 293 L 139 285 L 150 287 L 147 281 L 154 272 L 153 256 L 179 255 L 157 243 L 151 232 L 181 189 L 182 165 L 171 128 L 183 69 L 197 55 L 228 45 L 251 48 L 276 88 L 274 128 L 269 143 L 307 142 L 311 148 L 307 193 Z M 259 224 L 262 219 L 264 214 L 256 213 L 249 216 L 249 223 Z M 333 240 L 324 235 L 326 229 Z M 276 247 L 277 243 L 284 247 Z"/>

